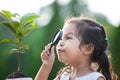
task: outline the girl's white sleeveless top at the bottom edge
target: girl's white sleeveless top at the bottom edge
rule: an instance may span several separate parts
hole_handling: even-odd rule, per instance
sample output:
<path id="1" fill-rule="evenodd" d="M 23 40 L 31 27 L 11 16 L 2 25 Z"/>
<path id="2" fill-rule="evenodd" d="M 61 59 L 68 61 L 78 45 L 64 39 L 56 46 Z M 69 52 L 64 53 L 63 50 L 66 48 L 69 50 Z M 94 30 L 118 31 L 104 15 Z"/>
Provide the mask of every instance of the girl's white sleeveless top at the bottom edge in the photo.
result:
<path id="1" fill-rule="evenodd" d="M 64 72 L 60 80 L 69 80 L 69 77 L 70 73 Z M 103 77 L 104 80 L 106 80 L 105 77 L 99 72 L 92 72 L 82 77 L 76 77 L 75 80 L 97 80 L 99 77 Z"/>

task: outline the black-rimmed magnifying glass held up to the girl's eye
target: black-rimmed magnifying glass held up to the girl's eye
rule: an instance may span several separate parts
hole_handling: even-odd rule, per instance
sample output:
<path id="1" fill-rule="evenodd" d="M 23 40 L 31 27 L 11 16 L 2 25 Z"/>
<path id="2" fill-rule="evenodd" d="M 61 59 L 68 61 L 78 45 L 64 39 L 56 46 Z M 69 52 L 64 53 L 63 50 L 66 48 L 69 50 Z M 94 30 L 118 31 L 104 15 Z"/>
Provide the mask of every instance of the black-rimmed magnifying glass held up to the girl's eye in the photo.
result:
<path id="1" fill-rule="evenodd" d="M 53 39 L 51 41 L 51 46 L 49 48 L 49 50 L 51 50 L 51 48 L 53 47 L 53 45 L 56 45 L 59 40 L 61 39 L 62 37 L 62 34 L 63 34 L 63 31 L 61 29 L 59 29 L 53 36 Z"/>

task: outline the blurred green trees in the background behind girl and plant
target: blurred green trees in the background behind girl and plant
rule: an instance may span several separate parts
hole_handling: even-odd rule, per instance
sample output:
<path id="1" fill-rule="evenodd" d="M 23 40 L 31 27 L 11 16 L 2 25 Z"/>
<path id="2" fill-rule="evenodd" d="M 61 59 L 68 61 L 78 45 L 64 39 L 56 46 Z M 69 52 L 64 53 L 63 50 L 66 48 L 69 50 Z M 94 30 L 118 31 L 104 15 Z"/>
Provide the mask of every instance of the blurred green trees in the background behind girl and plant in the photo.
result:
<path id="1" fill-rule="evenodd" d="M 64 19 L 68 16 L 84 15 L 96 19 L 105 26 L 109 39 L 109 51 L 111 52 L 113 69 L 120 77 L 120 24 L 119 26 L 114 26 L 109 23 L 106 16 L 90 11 L 84 0 L 71 0 L 66 5 L 61 5 L 59 2 L 54 1 L 52 4 L 41 9 L 39 15 L 42 14 L 49 14 L 50 20 L 48 24 L 40 25 L 40 29 L 35 29 L 24 39 L 23 44 L 28 44 L 30 50 L 22 54 L 21 72 L 34 79 L 42 64 L 40 53 L 44 46 L 51 42 L 53 34 L 59 28 L 62 28 Z M 36 20 L 36 22 L 38 25 L 40 24 L 39 20 Z M 13 38 L 9 30 L 0 25 L 0 40 L 7 37 Z M 0 80 L 4 80 L 6 76 L 17 69 L 17 54 L 9 54 L 10 49 L 13 47 L 15 46 L 11 44 L 0 43 Z M 62 65 L 56 58 L 49 80 L 55 77 Z"/>

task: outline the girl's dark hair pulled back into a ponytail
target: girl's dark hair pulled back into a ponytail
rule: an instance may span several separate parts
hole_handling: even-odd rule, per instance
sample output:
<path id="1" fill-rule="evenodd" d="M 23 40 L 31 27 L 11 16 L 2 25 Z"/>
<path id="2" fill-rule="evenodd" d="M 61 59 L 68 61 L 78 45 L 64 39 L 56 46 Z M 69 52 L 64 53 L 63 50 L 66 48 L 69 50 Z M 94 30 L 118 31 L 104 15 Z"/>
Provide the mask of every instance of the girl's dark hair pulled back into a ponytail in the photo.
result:
<path id="1" fill-rule="evenodd" d="M 101 72 L 107 80 L 112 80 L 109 59 L 107 57 L 108 41 L 103 26 L 88 18 L 72 18 L 67 23 L 72 23 L 76 26 L 78 36 L 82 39 L 80 45 L 94 45 L 91 62 L 98 64 L 97 71 Z"/>

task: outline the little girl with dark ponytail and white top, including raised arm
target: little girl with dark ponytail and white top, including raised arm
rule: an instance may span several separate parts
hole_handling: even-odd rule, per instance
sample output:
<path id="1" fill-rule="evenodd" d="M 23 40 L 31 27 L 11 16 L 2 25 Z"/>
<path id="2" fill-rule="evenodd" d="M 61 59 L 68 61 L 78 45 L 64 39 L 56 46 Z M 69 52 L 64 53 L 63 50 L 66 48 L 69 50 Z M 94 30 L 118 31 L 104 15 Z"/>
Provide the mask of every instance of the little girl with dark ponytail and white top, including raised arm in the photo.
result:
<path id="1" fill-rule="evenodd" d="M 60 62 L 66 64 L 54 80 L 111 80 L 106 54 L 108 42 L 105 30 L 99 23 L 87 18 L 68 19 L 56 51 Z M 55 54 L 50 44 L 41 53 L 42 66 L 35 80 L 47 80 Z M 93 68 L 96 65 L 96 69 Z"/>

